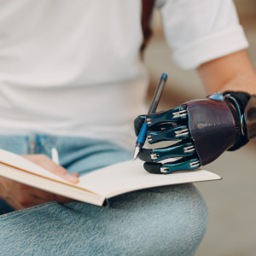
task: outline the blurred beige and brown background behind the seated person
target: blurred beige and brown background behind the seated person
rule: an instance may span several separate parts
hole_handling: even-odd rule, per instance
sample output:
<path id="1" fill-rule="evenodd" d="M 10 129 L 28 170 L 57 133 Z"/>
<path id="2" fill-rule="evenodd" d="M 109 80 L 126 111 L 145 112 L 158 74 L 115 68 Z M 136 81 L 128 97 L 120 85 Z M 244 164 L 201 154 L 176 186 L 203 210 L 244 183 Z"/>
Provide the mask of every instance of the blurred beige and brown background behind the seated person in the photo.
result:
<path id="1" fill-rule="evenodd" d="M 236 9 L 250 44 L 248 49 L 256 67 L 256 0 L 235 0 Z M 160 109 L 177 107 L 183 102 L 205 97 L 195 71 L 183 71 L 172 62 L 160 23 L 154 12 L 154 35 L 144 59 L 151 74 L 148 102 L 163 72 L 169 74 Z M 256 86 L 256 84 L 255 84 Z M 256 255 L 256 140 L 236 152 L 226 152 L 204 168 L 223 177 L 221 181 L 196 183 L 207 201 L 209 224 L 207 235 L 196 256 Z"/>

